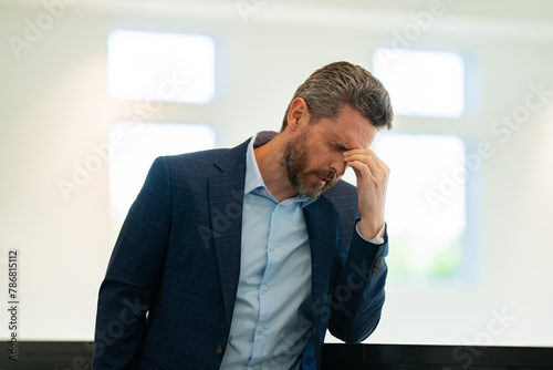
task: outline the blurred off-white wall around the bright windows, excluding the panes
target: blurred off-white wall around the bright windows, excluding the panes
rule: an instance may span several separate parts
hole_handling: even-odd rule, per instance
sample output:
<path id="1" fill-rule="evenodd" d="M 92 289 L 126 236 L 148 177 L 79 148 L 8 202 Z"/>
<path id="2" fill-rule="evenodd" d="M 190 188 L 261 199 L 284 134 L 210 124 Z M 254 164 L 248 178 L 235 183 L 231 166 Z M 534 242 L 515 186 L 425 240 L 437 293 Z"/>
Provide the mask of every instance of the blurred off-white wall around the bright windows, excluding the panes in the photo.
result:
<path id="1" fill-rule="evenodd" d="M 233 1 L 124 1 L 66 6 L 17 58 L 0 43 L 0 212 L 2 276 L 20 249 L 20 339 L 92 339 L 97 288 L 113 248 L 107 162 L 64 199 L 60 178 L 107 141 L 135 102 L 106 90 L 106 38 L 118 28 L 212 35 L 218 93 L 207 105 L 164 104 L 153 121 L 212 125 L 221 146 L 278 130 L 295 88 L 316 68 L 348 60 L 371 68 L 376 47 L 415 23 L 429 1 L 267 1 L 247 22 Z M 477 284 L 407 288 L 390 280 L 369 342 L 553 346 L 553 100 L 531 112 L 504 143 L 490 132 L 525 104 L 530 85 L 553 91 L 553 3 L 446 1 L 409 47 L 451 50 L 469 61 L 469 109 L 459 120 L 397 117 L 395 131 L 452 133 L 489 142 L 479 171 L 481 276 Z M 1 37 L 23 38 L 41 2 L 0 3 Z M 116 152 L 115 152 L 115 155 Z M 393 237 L 393 235 L 392 235 Z M 393 253 L 393 251 L 390 251 Z M 390 266 L 393 269 L 393 266 Z M 8 300 L 6 298 L 6 300 Z M 498 326 L 494 311 L 512 321 Z M 0 322 L 8 322 L 0 311 Z M 502 329 L 502 330 L 500 330 Z M 501 331 L 501 332 L 500 332 Z M 8 337 L 6 328 L 0 337 Z"/>

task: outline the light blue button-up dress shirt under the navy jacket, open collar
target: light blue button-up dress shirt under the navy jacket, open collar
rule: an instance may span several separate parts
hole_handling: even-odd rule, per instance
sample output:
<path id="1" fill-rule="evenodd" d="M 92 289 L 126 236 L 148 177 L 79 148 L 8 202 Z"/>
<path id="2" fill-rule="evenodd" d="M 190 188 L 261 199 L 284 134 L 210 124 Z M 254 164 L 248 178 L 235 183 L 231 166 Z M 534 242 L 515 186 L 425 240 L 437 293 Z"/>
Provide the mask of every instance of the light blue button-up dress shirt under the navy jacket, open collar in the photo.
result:
<path id="1" fill-rule="evenodd" d="M 237 300 L 221 369 L 299 369 L 311 338 L 311 249 L 301 195 L 281 203 L 246 154 Z"/>

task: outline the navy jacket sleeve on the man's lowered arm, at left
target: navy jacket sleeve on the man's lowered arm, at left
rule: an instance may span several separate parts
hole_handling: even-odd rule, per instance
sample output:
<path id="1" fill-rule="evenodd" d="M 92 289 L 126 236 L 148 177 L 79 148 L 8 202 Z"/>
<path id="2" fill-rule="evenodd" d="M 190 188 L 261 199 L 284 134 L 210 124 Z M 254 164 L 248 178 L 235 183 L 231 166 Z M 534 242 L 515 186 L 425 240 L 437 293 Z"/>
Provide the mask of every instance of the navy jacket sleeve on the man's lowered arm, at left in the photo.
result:
<path id="1" fill-rule="evenodd" d="M 157 158 L 131 207 L 98 295 L 93 368 L 137 369 L 170 233 L 167 160 Z"/>

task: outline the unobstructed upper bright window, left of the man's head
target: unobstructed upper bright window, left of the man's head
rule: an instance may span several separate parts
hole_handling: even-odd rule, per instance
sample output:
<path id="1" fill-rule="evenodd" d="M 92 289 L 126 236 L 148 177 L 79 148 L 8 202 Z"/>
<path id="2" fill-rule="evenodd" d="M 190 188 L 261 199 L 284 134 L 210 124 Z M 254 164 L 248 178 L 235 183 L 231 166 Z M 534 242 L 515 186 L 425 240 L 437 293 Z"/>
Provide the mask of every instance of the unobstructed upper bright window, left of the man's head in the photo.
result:
<path id="1" fill-rule="evenodd" d="M 215 95 L 215 42 L 206 35 L 117 30 L 107 40 L 114 97 L 205 104 Z"/>

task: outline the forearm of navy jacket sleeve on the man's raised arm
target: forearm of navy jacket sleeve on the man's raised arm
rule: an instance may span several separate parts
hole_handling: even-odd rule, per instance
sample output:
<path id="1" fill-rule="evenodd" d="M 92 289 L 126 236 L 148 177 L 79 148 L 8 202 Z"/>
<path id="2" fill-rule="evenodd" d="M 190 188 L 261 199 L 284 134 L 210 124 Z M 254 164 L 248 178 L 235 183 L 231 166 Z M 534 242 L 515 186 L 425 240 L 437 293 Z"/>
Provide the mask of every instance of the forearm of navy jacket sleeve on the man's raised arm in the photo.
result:
<path id="1" fill-rule="evenodd" d="M 388 236 L 376 245 L 363 239 L 356 229 L 346 261 L 340 271 L 331 302 L 328 330 L 345 342 L 361 342 L 376 328 L 384 305 Z"/>

